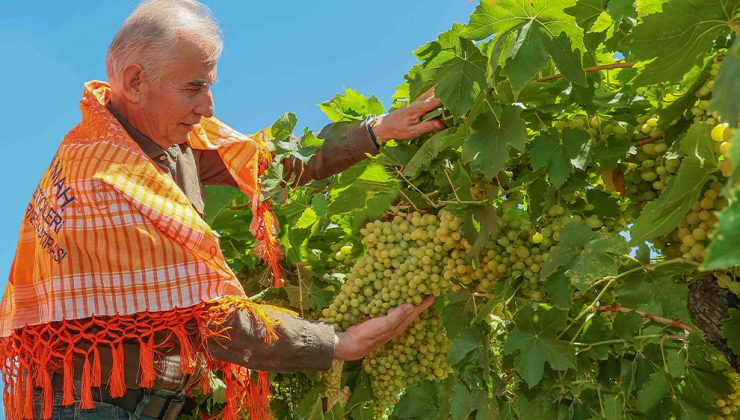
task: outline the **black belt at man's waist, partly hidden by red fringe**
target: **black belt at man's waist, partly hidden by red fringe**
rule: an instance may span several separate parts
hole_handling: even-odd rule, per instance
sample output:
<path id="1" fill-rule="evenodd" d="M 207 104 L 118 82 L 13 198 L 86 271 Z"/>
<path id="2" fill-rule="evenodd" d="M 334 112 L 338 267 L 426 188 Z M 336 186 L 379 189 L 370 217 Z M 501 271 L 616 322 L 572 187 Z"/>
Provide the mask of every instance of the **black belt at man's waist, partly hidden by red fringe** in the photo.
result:
<path id="1" fill-rule="evenodd" d="M 54 392 L 64 392 L 64 376 L 55 373 L 51 377 L 51 385 Z M 128 388 L 122 397 L 113 398 L 107 386 L 93 387 L 93 400 L 112 404 L 124 410 L 135 412 L 139 403 L 149 394 L 149 401 L 144 406 L 141 414 L 158 420 L 174 420 L 185 408 L 188 399 L 182 393 L 170 396 L 157 395 L 156 390 L 150 391 L 144 388 Z"/>

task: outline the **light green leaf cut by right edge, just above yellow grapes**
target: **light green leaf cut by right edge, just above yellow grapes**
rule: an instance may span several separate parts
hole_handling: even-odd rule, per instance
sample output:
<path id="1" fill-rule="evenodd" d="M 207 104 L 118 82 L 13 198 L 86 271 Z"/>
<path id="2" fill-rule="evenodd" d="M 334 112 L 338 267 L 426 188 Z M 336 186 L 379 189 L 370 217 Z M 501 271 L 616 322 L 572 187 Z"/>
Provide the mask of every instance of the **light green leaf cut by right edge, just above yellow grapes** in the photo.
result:
<path id="1" fill-rule="evenodd" d="M 736 127 L 740 123 L 740 37 L 735 38 L 732 47 L 719 67 L 710 106 L 719 112 L 722 119 Z M 735 143 L 737 144 L 737 143 Z"/>

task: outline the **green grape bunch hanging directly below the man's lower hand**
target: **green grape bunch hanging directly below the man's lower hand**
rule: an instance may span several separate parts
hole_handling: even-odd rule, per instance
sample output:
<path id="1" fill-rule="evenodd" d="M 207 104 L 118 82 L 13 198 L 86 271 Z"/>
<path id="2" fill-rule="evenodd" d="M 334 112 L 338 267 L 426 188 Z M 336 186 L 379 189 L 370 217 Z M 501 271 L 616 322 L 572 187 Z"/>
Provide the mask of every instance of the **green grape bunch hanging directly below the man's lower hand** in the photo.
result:
<path id="1" fill-rule="evenodd" d="M 447 362 L 450 340 L 441 331 L 441 315 L 427 310 L 406 333 L 363 361 L 375 395 L 376 418 L 398 402 L 403 389 L 423 380 L 441 381 L 452 372 Z"/>

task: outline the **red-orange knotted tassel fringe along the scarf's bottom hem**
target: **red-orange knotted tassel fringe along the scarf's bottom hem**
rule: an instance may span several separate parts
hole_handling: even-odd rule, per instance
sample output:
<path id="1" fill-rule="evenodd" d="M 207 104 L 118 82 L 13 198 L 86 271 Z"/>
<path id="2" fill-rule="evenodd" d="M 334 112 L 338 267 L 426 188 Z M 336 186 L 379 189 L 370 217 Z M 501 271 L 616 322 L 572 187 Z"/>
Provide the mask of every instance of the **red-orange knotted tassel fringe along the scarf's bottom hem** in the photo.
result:
<path id="1" fill-rule="evenodd" d="M 213 359 L 205 343 L 208 338 L 228 337 L 228 327 L 224 323 L 237 310 L 248 311 L 264 326 L 264 338 L 268 344 L 277 339 L 274 329 L 276 321 L 268 318 L 259 305 L 236 296 L 167 312 L 93 317 L 19 328 L 10 336 L 0 338 L 0 372 L 4 382 L 6 414 L 13 419 L 34 418 L 33 391 L 34 388 L 40 388 L 43 392 L 41 415 L 45 419 L 50 418 L 54 392 L 50 372 L 54 371 L 64 373 L 62 405 L 74 404 L 74 356 L 84 358 L 81 375 L 78 375 L 81 376 L 80 407 L 94 408 L 92 388 L 100 386 L 102 378 L 100 346 L 108 346 L 113 358 L 108 381 L 110 394 L 114 398 L 124 395 L 124 340 L 138 340 L 141 349 L 138 385 L 151 388 L 157 375 L 154 355 L 158 349 L 171 345 L 174 337 L 180 346 L 180 369 L 183 373 L 194 371 L 196 354 L 203 356 L 206 361 L 208 369 L 203 373 L 205 377 L 209 371 L 223 373 L 227 398 L 222 412 L 224 419 L 236 419 L 244 408 L 252 419 L 267 419 L 270 414 L 266 373 L 257 373 L 258 380 L 255 382 L 247 368 Z M 193 328 L 193 320 L 197 328 Z M 155 333 L 162 331 L 172 334 L 167 334 L 162 342 L 156 342 Z M 193 342 L 193 337 L 197 337 L 197 342 Z M 202 383 L 205 388 L 208 380 Z"/>

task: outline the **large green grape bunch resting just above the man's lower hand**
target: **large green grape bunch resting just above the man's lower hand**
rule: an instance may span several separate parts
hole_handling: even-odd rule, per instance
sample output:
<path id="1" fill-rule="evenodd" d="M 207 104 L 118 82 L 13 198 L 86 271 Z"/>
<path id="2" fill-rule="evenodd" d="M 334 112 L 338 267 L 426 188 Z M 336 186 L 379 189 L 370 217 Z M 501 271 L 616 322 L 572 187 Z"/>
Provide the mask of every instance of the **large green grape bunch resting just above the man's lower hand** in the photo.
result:
<path id="1" fill-rule="evenodd" d="M 355 261 L 324 319 L 346 329 L 366 316 L 383 316 L 403 303 L 418 305 L 426 295 L 449 288 L 438 218 L 419 212 L 376 220 L 360 230 L 367 254 Z"/>

